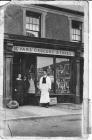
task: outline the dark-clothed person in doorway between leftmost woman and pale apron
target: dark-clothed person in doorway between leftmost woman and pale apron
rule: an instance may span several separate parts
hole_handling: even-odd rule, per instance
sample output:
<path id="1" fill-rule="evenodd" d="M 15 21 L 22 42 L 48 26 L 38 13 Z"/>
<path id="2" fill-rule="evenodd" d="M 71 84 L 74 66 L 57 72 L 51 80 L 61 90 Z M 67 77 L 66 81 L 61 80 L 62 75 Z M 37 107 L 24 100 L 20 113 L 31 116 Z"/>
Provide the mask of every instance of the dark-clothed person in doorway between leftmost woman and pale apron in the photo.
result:
<path id="1" fill-rule="evenodd" d="M 23 77 L 23 81 L 24 81 L 24 104 L 27 104 L 27 94 L 30 84 L 26 76 Z"/>

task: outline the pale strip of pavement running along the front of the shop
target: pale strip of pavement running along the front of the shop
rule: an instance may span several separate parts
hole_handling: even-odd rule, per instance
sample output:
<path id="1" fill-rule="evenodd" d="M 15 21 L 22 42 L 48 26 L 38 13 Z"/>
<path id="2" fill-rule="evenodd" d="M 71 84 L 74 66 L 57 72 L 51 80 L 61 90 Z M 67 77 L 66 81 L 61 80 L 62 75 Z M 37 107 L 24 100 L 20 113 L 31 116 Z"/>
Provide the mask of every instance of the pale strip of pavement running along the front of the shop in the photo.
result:
<path id="1" fill-rule="evenodd" d="M 17 109 L 0 108 L 0 120 L 33 119 L 76 114 L 82 114 L 82 104 L 58 103 L 49 106 L 49 108 L 32 105 L 20 106 Z"/>

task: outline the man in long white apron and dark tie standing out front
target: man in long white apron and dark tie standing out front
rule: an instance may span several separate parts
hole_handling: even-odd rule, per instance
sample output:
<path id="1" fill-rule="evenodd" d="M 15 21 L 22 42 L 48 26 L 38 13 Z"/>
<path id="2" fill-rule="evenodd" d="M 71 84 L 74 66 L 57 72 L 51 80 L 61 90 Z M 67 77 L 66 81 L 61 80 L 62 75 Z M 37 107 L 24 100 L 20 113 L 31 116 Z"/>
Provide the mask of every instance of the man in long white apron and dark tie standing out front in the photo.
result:
<path id="1" fill-rule="evenodd" d="M 41 90 L 40 104 L 45 107 L 49 107 L 50 97 L 49 92 L 51 90 L 51 79 L 47 76 L 47 71 L 44 71 L 43 76 L 40 78 L 39 88 Z"/>

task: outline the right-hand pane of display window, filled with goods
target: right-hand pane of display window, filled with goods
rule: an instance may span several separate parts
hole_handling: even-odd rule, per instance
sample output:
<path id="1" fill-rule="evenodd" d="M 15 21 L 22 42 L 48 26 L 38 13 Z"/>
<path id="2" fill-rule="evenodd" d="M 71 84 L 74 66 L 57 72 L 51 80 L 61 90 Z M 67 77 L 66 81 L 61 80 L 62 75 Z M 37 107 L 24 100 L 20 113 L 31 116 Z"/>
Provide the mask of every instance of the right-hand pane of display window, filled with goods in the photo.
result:
<path id="1" fill-rule="evenodd" d="M 56 58 L 56 94 L 70 94 L 71 65 L 69 59 Z"/>

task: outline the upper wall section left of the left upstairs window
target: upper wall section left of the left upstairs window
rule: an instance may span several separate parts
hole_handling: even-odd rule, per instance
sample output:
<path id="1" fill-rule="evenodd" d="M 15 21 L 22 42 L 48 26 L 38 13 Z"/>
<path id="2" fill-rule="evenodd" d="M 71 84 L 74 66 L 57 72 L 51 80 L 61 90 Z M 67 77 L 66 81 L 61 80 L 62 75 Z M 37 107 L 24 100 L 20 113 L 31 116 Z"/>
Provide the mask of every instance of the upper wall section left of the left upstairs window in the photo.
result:
<path id="1" fill-rule="evenodd" d="M 4 32 L 23 34 L 23 11 L 20 6 L 9 5 L 5 10 Z"/>

